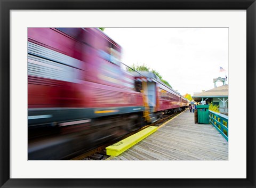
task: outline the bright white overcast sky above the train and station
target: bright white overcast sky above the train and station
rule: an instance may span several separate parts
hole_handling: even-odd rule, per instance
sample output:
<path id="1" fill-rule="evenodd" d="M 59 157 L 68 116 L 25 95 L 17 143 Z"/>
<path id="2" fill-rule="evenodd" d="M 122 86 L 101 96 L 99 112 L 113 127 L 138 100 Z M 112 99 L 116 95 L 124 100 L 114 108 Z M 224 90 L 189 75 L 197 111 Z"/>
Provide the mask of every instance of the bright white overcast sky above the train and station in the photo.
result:
<path id="1" fill-rule="evenodd" d="M 104 32 L 122 46 L 123 63 L 155 69 L 181 95 L 207 91 L 214 87 L 213 78 L 228 77 L 228 28 L 106 28 Z"/>

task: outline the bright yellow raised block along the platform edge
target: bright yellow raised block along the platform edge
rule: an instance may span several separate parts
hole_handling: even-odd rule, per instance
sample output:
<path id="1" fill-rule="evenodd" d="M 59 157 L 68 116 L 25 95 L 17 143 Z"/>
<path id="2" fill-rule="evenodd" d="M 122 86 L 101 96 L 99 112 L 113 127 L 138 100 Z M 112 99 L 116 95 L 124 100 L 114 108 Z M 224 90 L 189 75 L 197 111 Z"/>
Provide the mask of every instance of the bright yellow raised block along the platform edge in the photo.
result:
<path id="1" fill-rule="evenodd" d="M 156 126 L 149 126 L 139 133 L 135 133 L 132 136 L 125 138 L 124 140 L 117 142 L 113 145 L 107 146 L 106 151 L 108 156 L 119 156 L 119 154 L 123 153 L 125 150 L 131 148 L 131 146 L 137 144 L 142 141 L 144 138 L 154 133 L 157 130 Z"/>

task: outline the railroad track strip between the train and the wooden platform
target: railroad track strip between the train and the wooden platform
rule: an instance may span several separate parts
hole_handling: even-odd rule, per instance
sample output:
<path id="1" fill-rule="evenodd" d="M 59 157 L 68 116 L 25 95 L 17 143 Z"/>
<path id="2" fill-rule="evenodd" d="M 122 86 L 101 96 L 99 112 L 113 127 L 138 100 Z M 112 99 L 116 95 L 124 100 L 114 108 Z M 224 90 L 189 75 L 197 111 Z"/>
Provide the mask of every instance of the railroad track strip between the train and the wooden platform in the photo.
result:
<path id="1" fill-rule="evenodd" d="M 107 159 L 108 157 L 110 156 L 107 156 L 106 154 L 106 147 L 109 146 L 109 145 L 112 145 L 118 141 L 121 141 L 123 140 L 124 138 L 127 138 L 135 133 L 138 133 L 140 132 L 141 130 L 149 127 L 149 126 L 161 126 L 162 124 L 164 124 L 166 121 L 172 119 L 173 117 L 177 116 L 179 113 L 181 113 L 182 111 L 180 112 L 175 112 L 173 113 L 172 115 L 164 115 L 164 117 L 156 122 L 154 122 L 153 124 L 150 124 L 150 125 L 147 125 L 147 126 L 144 126 L 140 129 L 137 129 L 137 130 L 134 130 L 133 132 L 129 133 L 129 134 L 126 134 L 125 136 L 122 136 L 121 138 L 118 138 L 116 139 L 115 141 L 111 141 L 111 142 L 108 142 L 104 145 L 101 145 L 99 146 L 98 148 L 95 148 L 89 152 L 86 152 L 86 153 L 83 153 L 73 159 L 70 159 L 70 160 L 105 160 Z"/>

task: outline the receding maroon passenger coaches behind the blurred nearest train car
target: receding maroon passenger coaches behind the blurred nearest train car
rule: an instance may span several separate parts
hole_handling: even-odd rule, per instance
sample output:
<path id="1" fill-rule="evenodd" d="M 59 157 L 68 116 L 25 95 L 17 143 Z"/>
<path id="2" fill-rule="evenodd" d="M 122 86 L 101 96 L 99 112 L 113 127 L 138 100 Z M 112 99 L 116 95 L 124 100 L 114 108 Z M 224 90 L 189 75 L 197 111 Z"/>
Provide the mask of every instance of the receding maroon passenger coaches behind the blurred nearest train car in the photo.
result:
<path id="1" fill-rule="evenodd" d="M 160 119 L 163 113 L 186 108 L 186 100 L 178 92 L 165 85 L 153 72 L 133 72 L 137 91 L 145 95 L 145 117 L 148 122 Z"/>

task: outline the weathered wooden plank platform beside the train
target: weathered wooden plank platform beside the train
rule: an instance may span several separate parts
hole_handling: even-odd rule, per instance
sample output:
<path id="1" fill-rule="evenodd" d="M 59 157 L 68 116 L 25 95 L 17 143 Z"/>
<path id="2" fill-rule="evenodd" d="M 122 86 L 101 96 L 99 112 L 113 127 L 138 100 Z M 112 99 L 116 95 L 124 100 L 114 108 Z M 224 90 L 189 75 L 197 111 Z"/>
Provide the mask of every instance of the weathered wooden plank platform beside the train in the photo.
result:
<path id="1" fill-rule="evenodd" d="M 117 157 L 106 160 L 228 160 L 228 142 L 211 125 L 182 112 Z"/>

